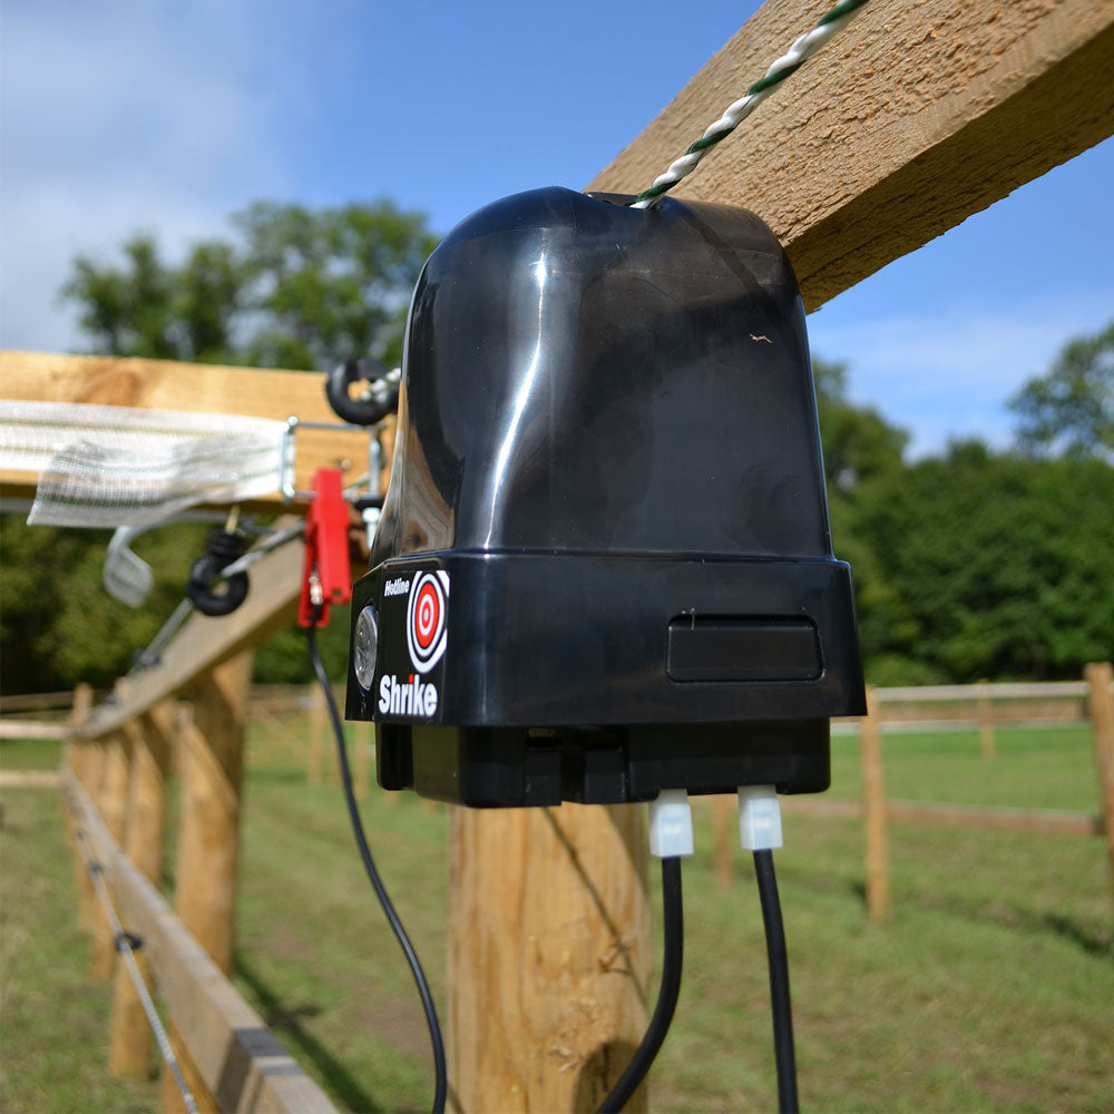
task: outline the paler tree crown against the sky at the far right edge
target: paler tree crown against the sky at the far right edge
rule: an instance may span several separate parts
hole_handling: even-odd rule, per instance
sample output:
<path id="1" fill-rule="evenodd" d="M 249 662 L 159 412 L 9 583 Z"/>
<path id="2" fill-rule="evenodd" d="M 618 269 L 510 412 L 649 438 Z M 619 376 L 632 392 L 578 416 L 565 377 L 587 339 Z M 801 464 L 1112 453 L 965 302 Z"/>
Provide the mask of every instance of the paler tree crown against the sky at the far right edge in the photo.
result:
<path id="1" fill-rule="evenodd" d="M 1048 372 L 1007 404 L 1025 451 L 1114 461 L 1114 321 L 1068 341 Z"/>

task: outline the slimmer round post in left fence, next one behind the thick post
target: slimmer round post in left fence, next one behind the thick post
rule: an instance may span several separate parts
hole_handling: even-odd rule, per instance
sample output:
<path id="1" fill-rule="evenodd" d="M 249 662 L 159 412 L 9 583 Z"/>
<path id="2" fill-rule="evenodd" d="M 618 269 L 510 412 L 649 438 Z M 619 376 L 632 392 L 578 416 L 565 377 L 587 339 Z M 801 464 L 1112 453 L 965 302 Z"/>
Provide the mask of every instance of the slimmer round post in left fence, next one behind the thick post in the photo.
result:
<path id="1" fill-rule="evenodd" d="M 163 872 L 172 715 L 169 706 L 160 705 L 124 729 L 131 744 L 131 780 L 128 786 L 124 850 L 144 877 L 155 886 L 158 886 Z M 125 930 L 128 928 L 128 925 L 124 926 Z M 141 945 L 143 941 L 135 952 L 135 959 L 144 983 L 149 986 L 149 965 Z M 144 1078 L 149 1063 L 150 1029 L 147 1018 L 126 966 L 118 962 L 108 1071 L 110 1075 Z"/>

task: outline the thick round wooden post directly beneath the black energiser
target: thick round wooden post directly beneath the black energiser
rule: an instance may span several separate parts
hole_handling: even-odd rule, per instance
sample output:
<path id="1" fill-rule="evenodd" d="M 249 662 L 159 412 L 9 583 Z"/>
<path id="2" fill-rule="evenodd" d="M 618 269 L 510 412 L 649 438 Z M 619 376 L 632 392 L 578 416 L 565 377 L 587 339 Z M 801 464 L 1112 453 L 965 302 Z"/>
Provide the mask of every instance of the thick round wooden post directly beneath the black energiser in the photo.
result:
<path id="1" fill-rule="evenodd" d="M 460 1112 L 599 1105 L 645 1028 L 645 864 L 635 805 L 451 810 L 448 1020 Z M 626 1108 L 645 1110 L 645 1087 Z"/>

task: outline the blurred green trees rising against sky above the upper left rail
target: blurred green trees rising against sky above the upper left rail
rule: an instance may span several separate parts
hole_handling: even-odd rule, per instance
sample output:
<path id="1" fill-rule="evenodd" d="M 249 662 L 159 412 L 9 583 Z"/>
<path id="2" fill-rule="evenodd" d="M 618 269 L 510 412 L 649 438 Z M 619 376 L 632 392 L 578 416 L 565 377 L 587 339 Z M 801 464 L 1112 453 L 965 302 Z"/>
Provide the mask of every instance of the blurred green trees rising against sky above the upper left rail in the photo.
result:
<path id="1" fill-rule="evenodd" d="M 192 363 L 326 370 L 373 355 L 394 364 L 410 292 L 437 240 L 389 201 L 340 208 L 257 202 L 232 240 L 168 263 L 155 238 L 123 263 L 79 256 L 62 296 L 96 352 Z"/>

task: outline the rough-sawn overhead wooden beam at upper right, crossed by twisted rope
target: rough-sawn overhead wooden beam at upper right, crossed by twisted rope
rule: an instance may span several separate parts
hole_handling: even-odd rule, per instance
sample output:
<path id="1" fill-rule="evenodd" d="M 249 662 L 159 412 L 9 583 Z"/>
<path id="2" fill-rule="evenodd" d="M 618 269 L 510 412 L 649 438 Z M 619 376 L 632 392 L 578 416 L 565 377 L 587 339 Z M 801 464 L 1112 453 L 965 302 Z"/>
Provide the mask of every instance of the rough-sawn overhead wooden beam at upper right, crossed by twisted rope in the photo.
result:
<path id="1" fill-rule="evenodd" d="M 829 4 L 768 3 L 589 185 L 637 193 Z M 812 310 L 1114 134 L 1114 0 L 872 0 L 673 193 L 758 213 Z"/>

